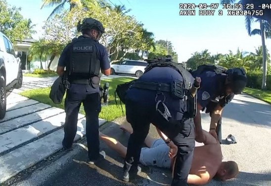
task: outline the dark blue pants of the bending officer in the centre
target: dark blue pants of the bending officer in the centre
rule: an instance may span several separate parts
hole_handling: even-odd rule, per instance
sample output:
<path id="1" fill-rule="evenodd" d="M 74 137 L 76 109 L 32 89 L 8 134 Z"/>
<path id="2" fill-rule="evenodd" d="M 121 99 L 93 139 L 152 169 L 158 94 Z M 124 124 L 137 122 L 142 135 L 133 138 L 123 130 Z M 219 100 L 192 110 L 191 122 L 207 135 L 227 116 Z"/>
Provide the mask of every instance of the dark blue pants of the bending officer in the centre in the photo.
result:
<path id="1" fill-rule="evenodd" d="M 126 101 L 126 118 L 133 127 L 133 133 L 128 142 L 124 171 L 135 173 L 137 170 L 141 147 L 148 134 L 150 123 L 152 123 L 178 147 L 172 186 L 187 186 L 187 177 L 195 147 L 194 123 L 181 124 L 181 118 L 179 121 L 167 121 L 156 111 L 155 105 L 140 105 L 132 101 Z M 132 167 L 126 162 L 132 164 Z"/>

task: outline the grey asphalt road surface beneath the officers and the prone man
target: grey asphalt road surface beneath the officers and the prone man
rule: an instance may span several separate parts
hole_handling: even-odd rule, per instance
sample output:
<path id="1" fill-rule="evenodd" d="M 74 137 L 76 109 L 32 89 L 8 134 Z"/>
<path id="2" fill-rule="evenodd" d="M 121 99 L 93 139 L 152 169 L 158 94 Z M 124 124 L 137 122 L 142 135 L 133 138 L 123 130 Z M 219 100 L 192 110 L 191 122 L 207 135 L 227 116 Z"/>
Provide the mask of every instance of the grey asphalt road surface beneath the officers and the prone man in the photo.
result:
<path id="1" fill-rule="evenodd" d="M 209 114 L 202 114 L 205 130 L 209 122 Z M 122 121 L 108 123 L 101 130 L 127 146 L 128 134 L 117 123 Z M 154 127 L 150 134 L 158 137 Z M 222 150 L 224 161 L 236 161 L 240 173 L 230 181 L 212 181 L 206 186 L 271 186 L 271 105 L 245 94 L 236 96 L 225 109 L 222 134 L 223 139 L 229 134 L 236 138 L 237 144 L 223 144 Z M 83 146 L 75 147 L 16 186 L 164 186 L 171 183 L 170 171 L 155 167 L 143 167 L 135 182 L 124 183 L 120 181 L 124 160 L 115 151 L 101 142 L 106 159 L 92 166 L 86 163 L 87 151 Z"/>

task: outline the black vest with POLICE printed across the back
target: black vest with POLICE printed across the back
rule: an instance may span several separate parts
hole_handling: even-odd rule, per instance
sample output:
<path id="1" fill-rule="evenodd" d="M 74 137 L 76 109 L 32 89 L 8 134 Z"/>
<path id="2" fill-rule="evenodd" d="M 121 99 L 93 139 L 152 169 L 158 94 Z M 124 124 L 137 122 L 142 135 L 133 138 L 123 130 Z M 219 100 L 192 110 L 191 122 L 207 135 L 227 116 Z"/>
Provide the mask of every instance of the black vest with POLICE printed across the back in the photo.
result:
<path id="1" fill-rule="evenodd" d="M 90 79 L 98 78 L 100 61 L 95 42 L 90 37 L 73 39 L 67 70 L 71 83 L 89 84 Z"/>

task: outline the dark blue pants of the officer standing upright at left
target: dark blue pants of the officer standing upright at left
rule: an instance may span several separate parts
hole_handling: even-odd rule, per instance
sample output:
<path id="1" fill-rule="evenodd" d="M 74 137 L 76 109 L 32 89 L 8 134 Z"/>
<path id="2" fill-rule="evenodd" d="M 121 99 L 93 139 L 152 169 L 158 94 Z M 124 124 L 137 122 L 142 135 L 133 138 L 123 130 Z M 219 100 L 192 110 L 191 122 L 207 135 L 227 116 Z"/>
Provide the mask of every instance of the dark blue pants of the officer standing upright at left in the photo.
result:
<path id="1" fill-rule="evenodd" d="M 101 111 L 101 101 L 99 93 L 86 91 L 86 88 L 71 86 L 67 90 L 65 99 L 66 119 L 64 124 L 64 139 L 62 145 L 70 148 L 73 144 L 78 122 L 78 112 L 83 102 L 86 112 L 86 136 L 89 150 L 89 158 L 95 159 L 99 156 L 99 112 Z"/>

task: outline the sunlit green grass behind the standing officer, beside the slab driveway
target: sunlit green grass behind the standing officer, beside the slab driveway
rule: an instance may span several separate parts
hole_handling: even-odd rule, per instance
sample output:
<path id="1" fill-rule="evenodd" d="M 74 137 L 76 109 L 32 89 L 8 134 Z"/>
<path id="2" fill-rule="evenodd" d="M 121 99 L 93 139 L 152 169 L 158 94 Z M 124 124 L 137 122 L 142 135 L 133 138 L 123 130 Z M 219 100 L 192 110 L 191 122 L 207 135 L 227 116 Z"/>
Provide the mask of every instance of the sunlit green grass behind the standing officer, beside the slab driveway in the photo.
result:
<path id="1" fill-rule="evenodd" d="M 103 85 L 105 82 L 109 82 L 109 101 L 108 101 L 108 106 L 102 107 L 102 110 L 99 114 L 100 118 L 103 118 L 107 121 L 112 121 L 118 117 L 122 116 L 122 109 L 121 109 L 121 105 L 119 102 L 119 99 L 117 99 L 117 103 L 118 105 L 116 105 L 115 102 L 115 90 L 117 88 L 118 84 L 124 83 L 124 82 L 128 82 L 133 80 L 134 78 L 127 78 L 127 77 L 119 77 L 119 78 L 114 78 L 114 79 L 106 79 L 106 80 L 101 80 L 101 85 Z M 25 96 L 29 99 L 33 99 L 33 100 L 37 100 L 41 103 L 50 105 L 52 107 L 57 107 L 60 109 L 64 109 L 64 99 L 65 96 L 63 98 L 63 101 L 61 104 L 56 105 L 54 104 L 51 99 L 49 98 L 49 93 L 50 93 L 50 87 L 47 88 L 39 88 L 39 89 L 33 89 L 33 90 L 26 90 L 22 93 L 20 93 L 20 95 Z M 125 113 L 125 106 L 123 105 L 123 111 Z M 83 104 L 81 105 L 80 108 L 80 113 L 85 115 L 85 111 L 83 108 Z"/>

